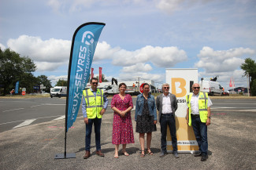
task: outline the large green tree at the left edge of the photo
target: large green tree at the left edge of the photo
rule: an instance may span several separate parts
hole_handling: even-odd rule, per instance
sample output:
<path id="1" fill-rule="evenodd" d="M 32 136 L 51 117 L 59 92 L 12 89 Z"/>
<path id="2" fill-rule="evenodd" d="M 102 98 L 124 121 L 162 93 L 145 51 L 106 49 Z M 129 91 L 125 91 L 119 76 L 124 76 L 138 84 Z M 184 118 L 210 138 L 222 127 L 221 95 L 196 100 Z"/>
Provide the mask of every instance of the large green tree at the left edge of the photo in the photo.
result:
<path id="1" fill-rule="evenodd" d="M 20 57 L 20 54 L 10 49 L 0 49 L 0 85 L 4 95 L 15 88 L 17 81 L 20 81 L 20 87 L 29 89 L 25 84 L 32 84 L 35 78 L 32 72 L 35 70 L 35 63 L 28 56 Z"/>

